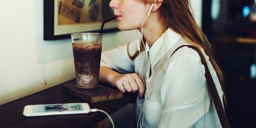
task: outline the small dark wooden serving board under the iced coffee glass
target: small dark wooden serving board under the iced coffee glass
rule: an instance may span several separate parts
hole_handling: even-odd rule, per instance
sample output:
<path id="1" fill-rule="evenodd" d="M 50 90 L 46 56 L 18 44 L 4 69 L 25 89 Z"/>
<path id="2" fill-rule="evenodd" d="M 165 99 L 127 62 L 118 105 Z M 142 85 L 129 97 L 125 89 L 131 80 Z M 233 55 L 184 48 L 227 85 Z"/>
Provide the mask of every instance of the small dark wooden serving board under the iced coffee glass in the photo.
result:
<path id="1" fill-rule="evenodd" d="M 89 103 L 97 103 L 101 101 L 110 101 L 123 98 L 122 92 L 102 85 L 99 85 L 99 87 L 96 89 L 83 90 L 76 88 L 75 83 L 67 83 L 61 85 L 61 90 Z"/>

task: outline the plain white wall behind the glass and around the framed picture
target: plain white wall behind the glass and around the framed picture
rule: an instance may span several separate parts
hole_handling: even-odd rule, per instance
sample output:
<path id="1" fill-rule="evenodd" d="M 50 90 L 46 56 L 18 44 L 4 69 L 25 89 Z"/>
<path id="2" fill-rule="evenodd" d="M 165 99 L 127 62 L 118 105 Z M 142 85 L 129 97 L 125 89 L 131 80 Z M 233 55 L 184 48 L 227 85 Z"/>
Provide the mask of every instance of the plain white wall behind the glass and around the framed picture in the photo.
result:
<path id="1" fill-rule="evenodd" d="M 198 24 L 201 3 L 192 0 Z M 75 78 L 71 39 L 43 40 L 43 0 L 0 0 L 0 16 L 0 105 Z M 104 34 L 103 51 L 134 39 Z"/>

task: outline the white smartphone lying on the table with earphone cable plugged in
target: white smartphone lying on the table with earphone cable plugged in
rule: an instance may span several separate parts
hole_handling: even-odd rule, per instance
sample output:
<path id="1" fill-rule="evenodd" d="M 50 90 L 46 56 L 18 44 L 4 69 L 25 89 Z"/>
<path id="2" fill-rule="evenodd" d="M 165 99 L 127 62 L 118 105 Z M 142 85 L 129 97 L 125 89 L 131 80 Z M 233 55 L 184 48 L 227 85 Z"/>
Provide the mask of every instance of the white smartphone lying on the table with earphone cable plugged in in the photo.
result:
<path id="1" fill-rule="evenodd" d="M 23 115 L 26 117 L 47 116 L 47 115 L 67 115 L 89 113 L 88 103 L 61 103 L 61 104 L 40 104 L 27 105 L 24 107 Z"/>

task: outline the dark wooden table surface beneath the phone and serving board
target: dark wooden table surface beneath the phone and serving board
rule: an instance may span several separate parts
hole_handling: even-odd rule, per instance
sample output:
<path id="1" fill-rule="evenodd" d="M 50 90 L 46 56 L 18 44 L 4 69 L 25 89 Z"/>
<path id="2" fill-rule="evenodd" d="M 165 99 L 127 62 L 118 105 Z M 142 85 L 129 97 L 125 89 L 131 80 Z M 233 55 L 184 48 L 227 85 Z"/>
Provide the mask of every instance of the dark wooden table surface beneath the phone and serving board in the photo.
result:
<path id="1" fill-rule="evenodd" d="M 65 83 L 74 82 L 75 79 L 72 79 Z M 101 109 L 111 115 L 126 104 L 133 103 L 136 97 L 136 93 L 125 93 L 121 99 L 103 101 L 99 103 L 89 103 L 89 105 L 90 108 Z M 61 91 L 61 84 L 59 84 L 35 94 L 31 94 L 27 97 L 1 105 L 0 128 L 97 128 L 102 124 L 104 126 L 104 119 L 107 117 L 107 115 L 102 112 L 42 117 L 24 117 L 22 115 L 24 107 L 29 104 L 78 102 L 85 101 Z"/>

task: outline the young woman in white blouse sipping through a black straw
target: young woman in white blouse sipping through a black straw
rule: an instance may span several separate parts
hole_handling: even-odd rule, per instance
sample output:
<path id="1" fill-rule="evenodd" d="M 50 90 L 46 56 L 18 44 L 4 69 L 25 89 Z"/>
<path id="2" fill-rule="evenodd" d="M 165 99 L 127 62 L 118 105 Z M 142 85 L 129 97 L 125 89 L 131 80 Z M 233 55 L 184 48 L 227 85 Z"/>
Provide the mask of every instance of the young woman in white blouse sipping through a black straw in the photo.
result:
<path id="1" fill-rule="evenodd" d="M 181 45 L 200 48 L 222 99 L 223 76 L 189 1 L 111 0 L 109 5 L 118 28 L 138 29 L 143 40 L 140 48 L 135 40 L 104 52 L 99 80 L 123 93 L 139 92 L 134 105 L 138 127 L 220 128 L 198 52 L 182 47 L 171 56 Z"/>

